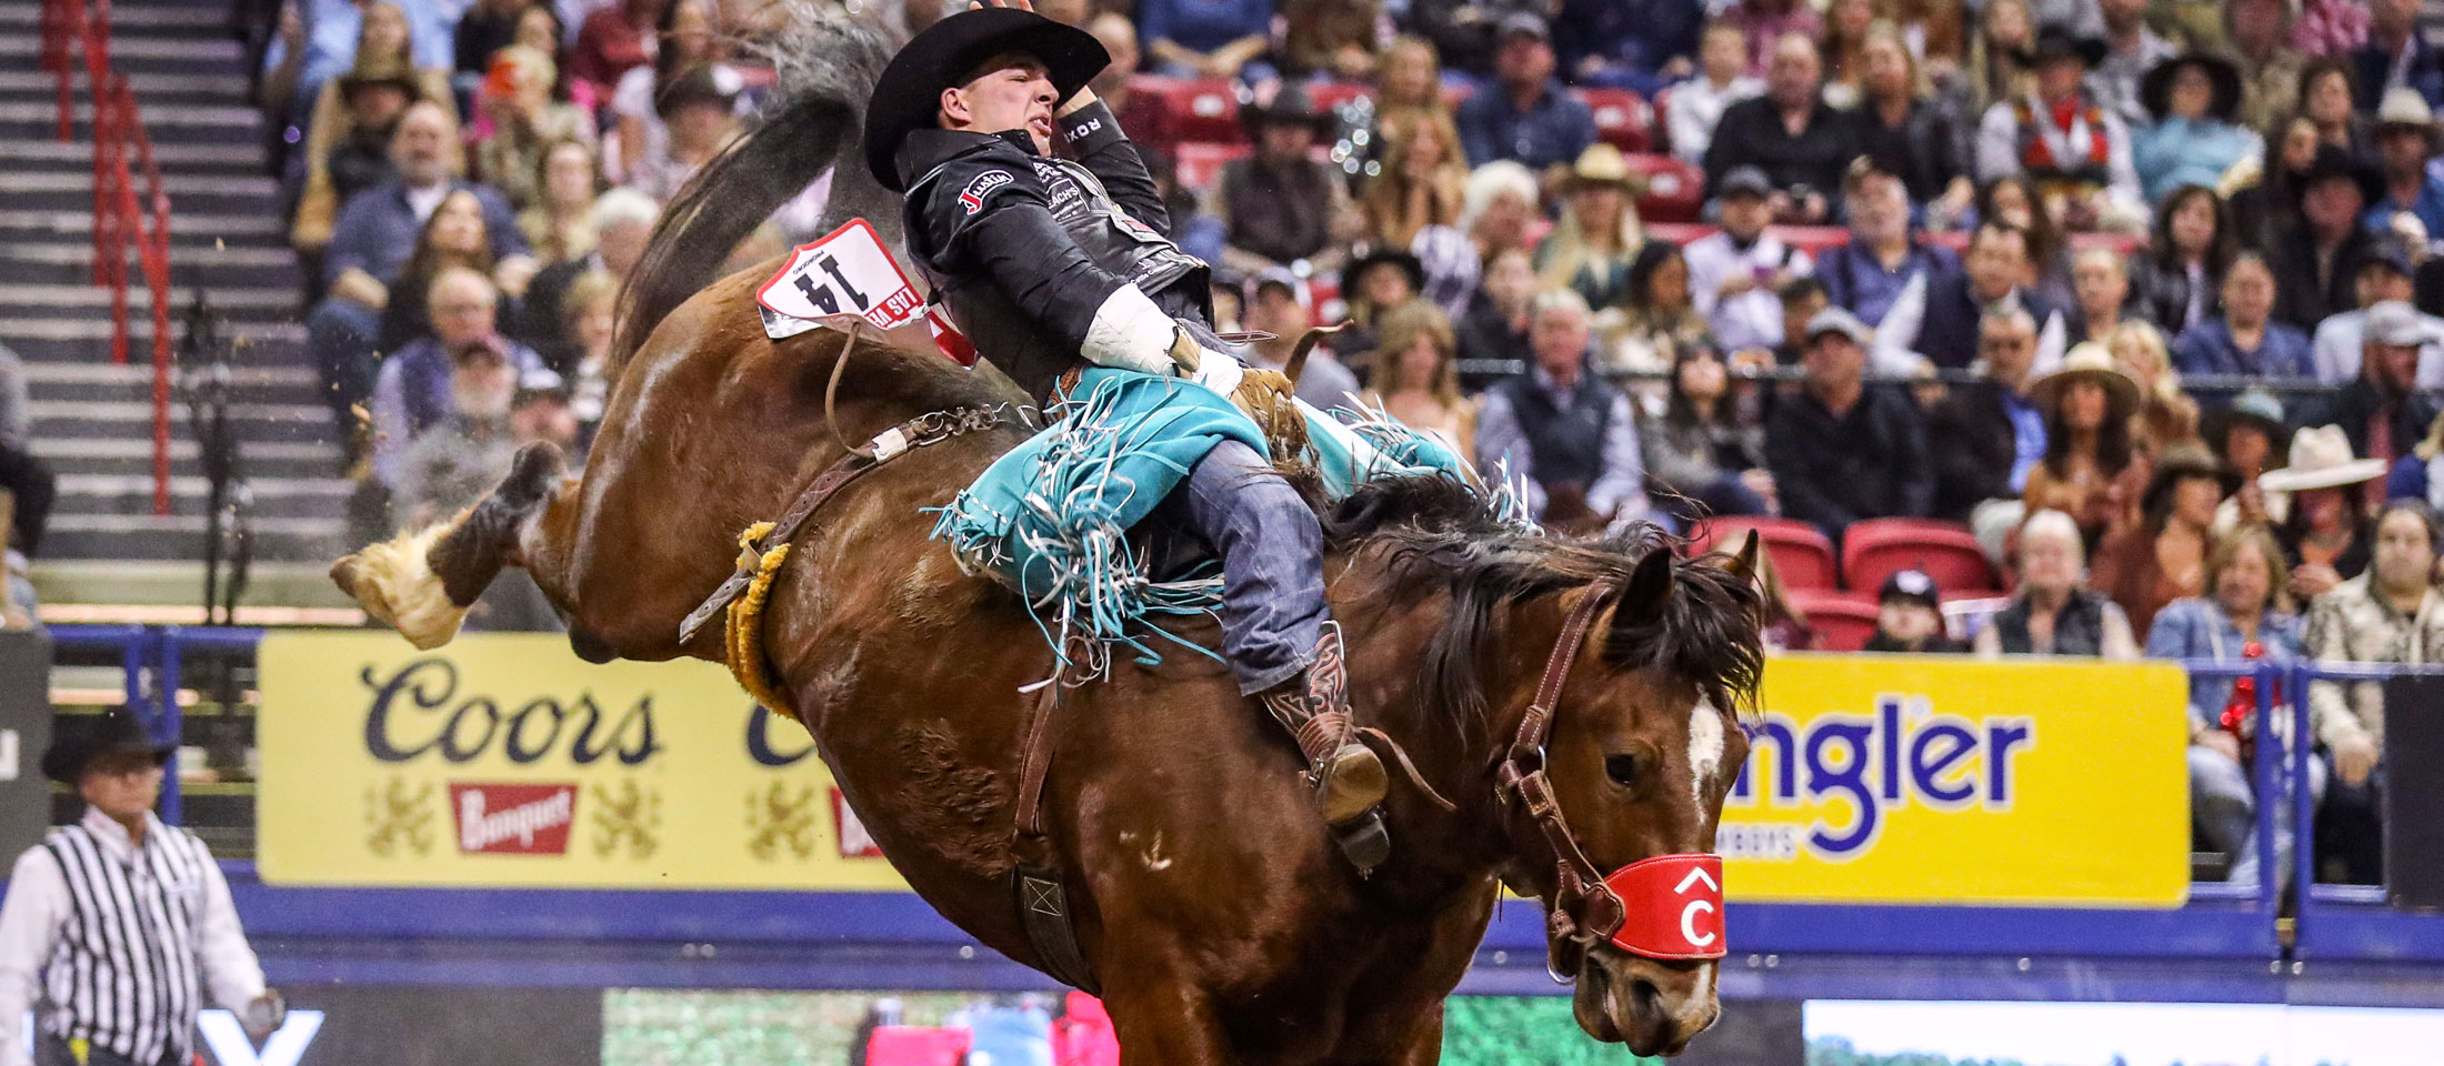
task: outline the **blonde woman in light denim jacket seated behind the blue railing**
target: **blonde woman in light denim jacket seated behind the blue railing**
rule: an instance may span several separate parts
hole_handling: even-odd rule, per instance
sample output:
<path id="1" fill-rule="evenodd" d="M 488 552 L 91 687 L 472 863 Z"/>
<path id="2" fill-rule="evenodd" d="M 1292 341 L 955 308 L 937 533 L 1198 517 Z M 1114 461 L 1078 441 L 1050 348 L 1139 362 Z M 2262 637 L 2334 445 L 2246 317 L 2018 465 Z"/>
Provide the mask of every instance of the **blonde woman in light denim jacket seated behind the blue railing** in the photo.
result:
<path id="1" fill-rule="evenodd" d="M 2246 2 L 2246 0 L 2244 0 Z M 2300 660 L 2300 616 L 2283 594 L 2283 550 L 2263 526 L 2226 533 L 2207 553 L 2207 594 L 2175 599 L 2156 614 L 2146 633 L 2146 655 L 2168 660 Z M 2256 790 L 2241 746 L 2261 729 L 2290 738 L 2288 714 L 2258 721 L 2253 685 L 2248 699 L 2226 719 L 2234 702 L 2231 677 L 2190 677 L 2190 809 L 2207 844 L 2231 856 L 2226 880 L 2258 880 Z M 2280 707 L 2280 702 L 2275 704 Z M 2324 765 L 2314 763 L 2312 792 L 2324 790 Z M 2275 822 L 2278 856 L 2290 846 L 2290 819 Z M 2280 863 L 2280 858 L 2278 858 Z"/>

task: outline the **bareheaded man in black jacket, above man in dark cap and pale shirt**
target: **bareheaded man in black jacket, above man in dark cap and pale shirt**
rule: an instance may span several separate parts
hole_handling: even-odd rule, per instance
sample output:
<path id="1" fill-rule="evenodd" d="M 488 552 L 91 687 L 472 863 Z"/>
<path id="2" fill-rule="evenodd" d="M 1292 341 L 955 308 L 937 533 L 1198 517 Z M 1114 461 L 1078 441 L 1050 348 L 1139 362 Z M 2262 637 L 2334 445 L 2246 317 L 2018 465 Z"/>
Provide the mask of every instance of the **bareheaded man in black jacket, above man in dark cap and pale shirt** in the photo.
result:
<path id="1" fill-rule="evenodd" d="M 1772 220 L 1823 225 L 1840 218 L 1840 181 L 1857 156 L 1850 120 L 1818 93 L 1823 64 L 1816 42 L 1787 34 L 1774 44 L 1765 95 L 1723 108 L 1723 122 L 1706 147 L 1706 191 L 1725 196 L 1725 181 L 1757 169 L 1769 186 Z"/>

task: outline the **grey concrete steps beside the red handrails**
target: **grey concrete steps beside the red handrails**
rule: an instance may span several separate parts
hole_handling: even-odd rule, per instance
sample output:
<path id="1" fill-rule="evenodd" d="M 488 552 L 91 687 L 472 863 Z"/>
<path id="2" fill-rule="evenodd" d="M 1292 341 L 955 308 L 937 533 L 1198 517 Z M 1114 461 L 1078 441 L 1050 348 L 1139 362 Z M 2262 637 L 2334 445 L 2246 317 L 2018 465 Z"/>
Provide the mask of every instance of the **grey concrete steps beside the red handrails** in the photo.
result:
<path id="1" fill-rule="evenodd" d="M 110 599 L 103 589 L 117 565 L 200 557 L 205 482 L 188 411 L 174 401 L 171 513 L 154 516 L 152 306 L 137 271 L 130 364 L 112 364 L 112 293 L 90 286 L 86 78 L 73 78 L 73 139 L 59 142 L 56 83 L 37 68 L 39 15 L 39 2 L 0 0 L 0 342 L 27 362 L 34 450 L 59 472 L 37 570 L 73 570 L 76 597 Z M 303 350 L 296 254 L 225 7 L 115 2 L 110 51 L 137 93 L 171 200 L 171 342 L 183 340 L 200 291 L 240 345 L 230 416 L 244 440 L 254 555 L 315 570 L 342 548 L 349 484 L 337 477 L 337 435 Z"/>

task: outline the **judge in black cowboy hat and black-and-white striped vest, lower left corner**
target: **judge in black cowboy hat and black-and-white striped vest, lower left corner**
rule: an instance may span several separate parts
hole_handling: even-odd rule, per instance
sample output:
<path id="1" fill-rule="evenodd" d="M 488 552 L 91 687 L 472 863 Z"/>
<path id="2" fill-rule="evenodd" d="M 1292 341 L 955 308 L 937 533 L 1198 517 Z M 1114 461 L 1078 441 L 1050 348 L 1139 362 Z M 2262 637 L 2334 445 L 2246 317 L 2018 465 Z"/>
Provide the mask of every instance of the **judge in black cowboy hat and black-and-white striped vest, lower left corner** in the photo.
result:
<path id="1" fill-rule="evenodd" d="M 39 1066 L 188 1066 L 200 995 L 254 1039 L 286 1007 L 237 927 L 230 883 L 203 841 L 154 817 L 171 748 L 115 709 L 59 736 L 42 773 L 86 797 L 86 817 L 17 856 L 0 902 L 0 1066 L 24 1066 L 42 1007 Z"/>

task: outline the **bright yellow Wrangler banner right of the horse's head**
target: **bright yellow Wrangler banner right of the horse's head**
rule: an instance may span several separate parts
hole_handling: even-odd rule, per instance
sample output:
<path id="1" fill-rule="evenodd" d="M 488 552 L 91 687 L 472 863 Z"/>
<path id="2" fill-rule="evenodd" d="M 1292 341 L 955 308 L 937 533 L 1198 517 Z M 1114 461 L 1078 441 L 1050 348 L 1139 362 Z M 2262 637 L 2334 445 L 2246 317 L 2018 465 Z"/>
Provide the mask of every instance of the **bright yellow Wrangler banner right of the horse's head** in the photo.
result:
<path id="1" fill-rule="evenodd" d="M 1733 900 L 2178 907 L 2170 663 L 1777 655 L 1716 851 Z"/>

